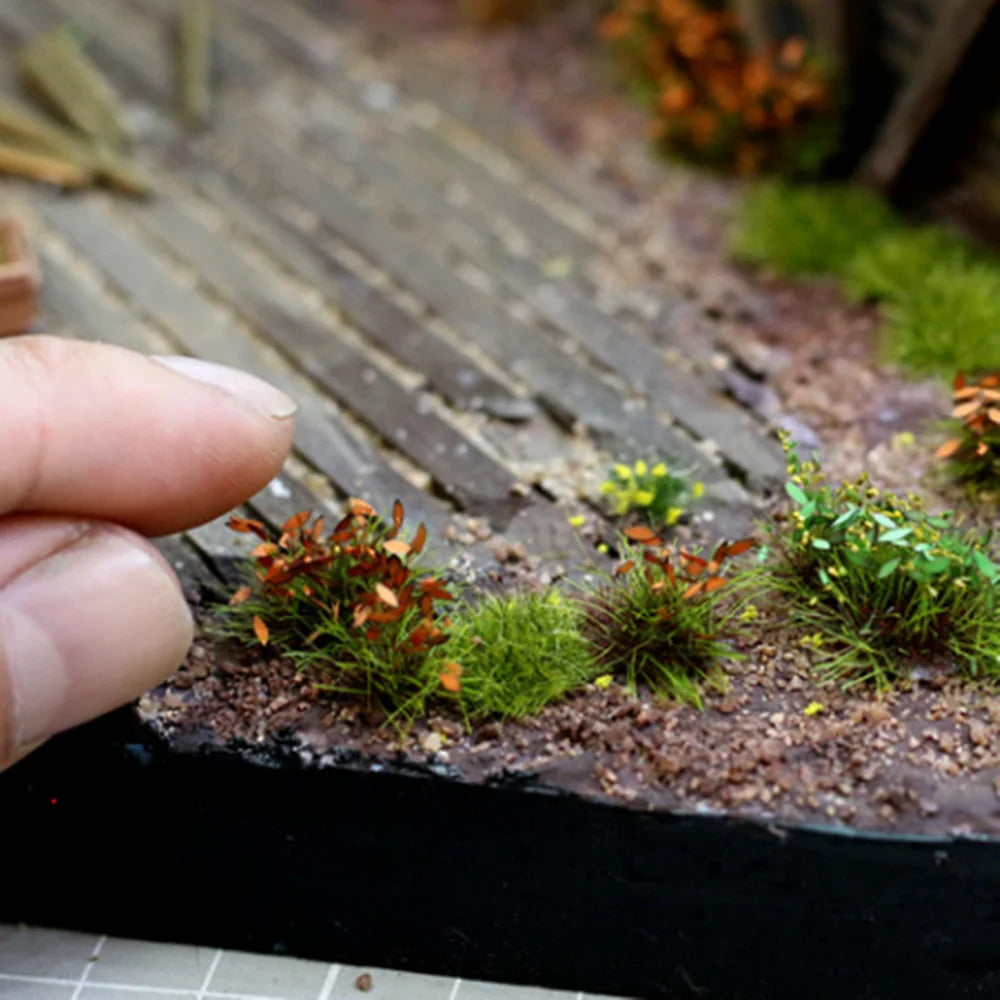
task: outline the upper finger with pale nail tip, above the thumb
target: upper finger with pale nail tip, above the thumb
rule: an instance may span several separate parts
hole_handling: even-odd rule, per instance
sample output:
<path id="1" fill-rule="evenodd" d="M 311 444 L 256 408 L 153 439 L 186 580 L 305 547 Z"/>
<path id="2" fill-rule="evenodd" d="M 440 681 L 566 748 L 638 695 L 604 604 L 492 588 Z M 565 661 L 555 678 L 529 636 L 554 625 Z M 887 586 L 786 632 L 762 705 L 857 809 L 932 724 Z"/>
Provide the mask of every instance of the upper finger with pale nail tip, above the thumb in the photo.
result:
<path id="1" fill-rule="evenodd" d="M 281 468 L 294 403 L 236 369 L 49 336 L 0 343 L 0 515 L 148 535 L 230 509 Z"/>

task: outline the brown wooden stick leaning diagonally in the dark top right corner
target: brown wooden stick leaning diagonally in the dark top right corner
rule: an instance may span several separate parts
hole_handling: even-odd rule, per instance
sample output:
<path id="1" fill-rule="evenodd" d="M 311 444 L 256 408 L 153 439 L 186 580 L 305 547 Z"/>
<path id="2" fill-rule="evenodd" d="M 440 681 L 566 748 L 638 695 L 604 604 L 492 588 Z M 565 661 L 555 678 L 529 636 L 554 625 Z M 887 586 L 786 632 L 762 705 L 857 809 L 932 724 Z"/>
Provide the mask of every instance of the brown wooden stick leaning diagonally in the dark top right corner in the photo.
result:
<path id="1" fill-rule="evenodd" d="M 916 68 L 858 167 L 859 180 L 883 191 L 893 185 L 996 2 L 950 0 L 943 6 Z"/>

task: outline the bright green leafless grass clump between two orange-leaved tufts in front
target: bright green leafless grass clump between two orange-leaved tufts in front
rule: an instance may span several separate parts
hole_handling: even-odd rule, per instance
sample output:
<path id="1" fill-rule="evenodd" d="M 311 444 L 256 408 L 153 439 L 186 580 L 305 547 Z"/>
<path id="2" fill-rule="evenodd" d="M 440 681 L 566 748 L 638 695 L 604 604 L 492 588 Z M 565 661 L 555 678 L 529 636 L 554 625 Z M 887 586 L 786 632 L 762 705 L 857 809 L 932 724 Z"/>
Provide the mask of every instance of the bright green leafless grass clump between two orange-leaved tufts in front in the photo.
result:
<path id="1" fill-rule="evenodd" d="M 580 619 L 578 603 L 555 590 L 491 595 L 459 610 L 435 657 L 461 665 L 467 715 L 520 719 L 600 673 Z"/>

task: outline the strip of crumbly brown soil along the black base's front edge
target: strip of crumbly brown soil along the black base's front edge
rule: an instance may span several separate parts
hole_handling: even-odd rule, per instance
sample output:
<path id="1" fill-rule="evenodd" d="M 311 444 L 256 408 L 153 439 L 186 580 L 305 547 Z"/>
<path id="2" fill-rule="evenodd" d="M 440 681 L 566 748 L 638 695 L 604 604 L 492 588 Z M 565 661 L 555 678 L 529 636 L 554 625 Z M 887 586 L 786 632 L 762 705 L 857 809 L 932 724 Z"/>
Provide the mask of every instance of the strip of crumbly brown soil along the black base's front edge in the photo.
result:
<path id="1" fill-rule="evenodd" d="M 266 743 L 294 731 L 314 758 L 353 749 L 510 773 L 634 808 L 781 822 L 1000 836 L 1000 697 L 932 670 L 882 699 L 817 683 L 809 651 L 763 622 L 703 711 L 590 685 L 521 722 L 466 730 L 442 709 L 400 733 L 317 691 L 285 659 L 200 639 L 141 712 L 162 732 Z M 812 703 L 822 706 L 806 714 Z M 331 758 L 332 759 L 332 758 Z"/>

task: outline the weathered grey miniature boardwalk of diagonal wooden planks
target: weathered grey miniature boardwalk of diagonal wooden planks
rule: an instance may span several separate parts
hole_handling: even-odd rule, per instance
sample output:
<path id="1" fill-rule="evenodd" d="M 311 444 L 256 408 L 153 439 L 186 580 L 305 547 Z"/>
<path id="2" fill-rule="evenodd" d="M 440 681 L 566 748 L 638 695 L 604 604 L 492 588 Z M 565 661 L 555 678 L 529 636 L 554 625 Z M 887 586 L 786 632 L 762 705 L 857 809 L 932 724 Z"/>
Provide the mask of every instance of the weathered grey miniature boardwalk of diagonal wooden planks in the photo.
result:
<path id="1" fill-rule="evenodd" d="M 614 189 L 433 65 L 390 82 L 362 27 L 322 0 L 221 0 L 213 122 L 186 134 L 176 9 L 0 4 L 4 56 L 79 28 L 158 186 L 142 202 L 5 184 L 42 261 L 39 329 L 236 365 L 293 396 L 295 456 L 248 504 L 271 521 L 400 498 L 441 539 L 477 519 L 474 559 L 491 531 L 551 570 L 585 555 L 573 494 L 642 457 L 703 479 L 719 533 L 746 529 L 780 450 L 705 358 L 697 375 L 667 360 L 669 323 L 654 336 L 588 280 L 615 253 Z M 669 315 L 669 288 L 661 304 Z M 238 543 L 221 521 L 162 542 L 191 583 Z"/>

